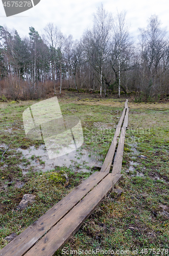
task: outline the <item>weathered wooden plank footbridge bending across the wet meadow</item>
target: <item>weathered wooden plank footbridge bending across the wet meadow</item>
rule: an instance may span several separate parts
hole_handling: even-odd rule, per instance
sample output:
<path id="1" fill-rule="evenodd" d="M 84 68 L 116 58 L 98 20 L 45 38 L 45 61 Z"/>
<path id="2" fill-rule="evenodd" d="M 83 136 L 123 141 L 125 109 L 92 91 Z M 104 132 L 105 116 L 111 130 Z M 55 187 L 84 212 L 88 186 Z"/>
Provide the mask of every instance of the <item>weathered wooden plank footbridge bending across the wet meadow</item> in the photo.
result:
<path id="1" fill-rule="evenodd" d="M 0 250 L 1 256 L 52 256 L 75 234 L 114 187 L 114 184 L 122 179 L 120 172 L 129 114 L 127 102 L 128 100 L 125 102 L 125 108 L 101 171 L 93 173 L 20 233 Z M 114 157 L 117 142 L 118 147 Z M 112 173 L 110 173 L 113 157 L 114 164 Z"/>

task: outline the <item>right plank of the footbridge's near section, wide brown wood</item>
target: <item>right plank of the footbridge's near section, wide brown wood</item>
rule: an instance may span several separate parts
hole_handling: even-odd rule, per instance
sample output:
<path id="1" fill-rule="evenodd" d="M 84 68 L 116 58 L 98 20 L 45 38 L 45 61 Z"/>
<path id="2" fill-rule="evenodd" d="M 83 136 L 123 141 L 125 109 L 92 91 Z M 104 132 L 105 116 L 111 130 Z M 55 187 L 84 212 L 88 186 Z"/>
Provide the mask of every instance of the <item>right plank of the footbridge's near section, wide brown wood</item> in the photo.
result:
<path id="1" fill-rule="evenodd" d="M 84 197 L 68 214 L 55 225 L 45 236 L 35 244 L 26 256 L 52 256 L 80 228 L 83 222 L 111 190 L 112 186 L 122 178 L 122 175 L 108 174 L 87 196 Z"/>

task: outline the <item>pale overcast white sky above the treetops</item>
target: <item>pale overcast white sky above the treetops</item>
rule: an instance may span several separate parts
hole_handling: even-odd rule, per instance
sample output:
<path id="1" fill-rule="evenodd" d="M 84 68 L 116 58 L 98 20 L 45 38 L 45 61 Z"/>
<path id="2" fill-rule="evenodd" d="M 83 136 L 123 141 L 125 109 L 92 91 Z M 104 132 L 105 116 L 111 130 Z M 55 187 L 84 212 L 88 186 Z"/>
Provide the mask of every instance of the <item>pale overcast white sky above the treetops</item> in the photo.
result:
<path id="1" fill-rule="evenodd" d="M 127 12 L 129 31 L 134 37 L 139 33 L 138 28 L 147 26 L 147 20 L 152 14 L 158 15 L 162 27 L 167 30 L 169 28 L 168 0 L 41 0 L 32 9 L 11 17 L 6 17 L 1 1 L 0 25 L 16 29 L 22 37 L 28 36 L 29 27 L 34 27 L 41 35 L 45 25 L 50 22 L 56 24 L 64 35 L 71 34 L 74 39 L 79 39 L 83 31 L 92 26 L 92 13 L 101 3 L 113 14 L 117 10 Z"/>

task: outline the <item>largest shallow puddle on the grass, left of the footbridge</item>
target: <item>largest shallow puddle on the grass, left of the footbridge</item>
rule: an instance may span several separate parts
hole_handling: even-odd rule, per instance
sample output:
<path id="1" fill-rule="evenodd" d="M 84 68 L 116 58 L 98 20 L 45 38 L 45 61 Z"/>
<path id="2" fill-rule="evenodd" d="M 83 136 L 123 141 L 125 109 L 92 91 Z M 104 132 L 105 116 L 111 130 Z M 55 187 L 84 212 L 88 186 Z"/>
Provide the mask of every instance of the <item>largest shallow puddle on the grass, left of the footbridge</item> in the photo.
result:
<path id="1" fill-rule="evenodd" d="M 89 157 L 88 151 L 84 149 L 73 151 L 54 159 L 49 159 L 45 145 L 40 145 L 38 148 L 35 148 L 35 146 L 31 146 L 28 149 L 18 148 L 17 151 L 21 152 L 31 162 L 27 166 L 19 164 L 23 175 L 28 173 L 30 166 L 34 166 L 35 171 L 41 170 L 42 172 L 54 169 L 55 166 L 71 167 L 76 172 L 90 172 L 93 166 L 102 167 L 102 162 L 97 157 Z M 31 159 L 32 156 L 34 156 L 34 159 Z"/>

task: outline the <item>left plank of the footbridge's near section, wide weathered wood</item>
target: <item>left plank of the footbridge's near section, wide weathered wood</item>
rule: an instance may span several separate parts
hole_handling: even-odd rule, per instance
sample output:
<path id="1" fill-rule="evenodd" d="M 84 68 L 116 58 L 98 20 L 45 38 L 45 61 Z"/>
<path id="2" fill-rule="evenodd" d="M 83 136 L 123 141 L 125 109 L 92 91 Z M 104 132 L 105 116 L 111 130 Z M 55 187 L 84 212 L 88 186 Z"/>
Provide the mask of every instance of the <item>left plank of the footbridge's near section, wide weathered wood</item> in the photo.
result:
<path id="1" fill-rule="evenodd" d="M 96 184 L 105 178 L 106 175 L 107 173 L 93 173 L 88 179 L 84 180 L 78 187 L 0 250 L 0 255 L 23 255 L 45 232 L 47 232 L 47 230 L 63 218 Z"/>

